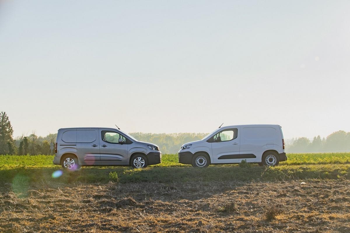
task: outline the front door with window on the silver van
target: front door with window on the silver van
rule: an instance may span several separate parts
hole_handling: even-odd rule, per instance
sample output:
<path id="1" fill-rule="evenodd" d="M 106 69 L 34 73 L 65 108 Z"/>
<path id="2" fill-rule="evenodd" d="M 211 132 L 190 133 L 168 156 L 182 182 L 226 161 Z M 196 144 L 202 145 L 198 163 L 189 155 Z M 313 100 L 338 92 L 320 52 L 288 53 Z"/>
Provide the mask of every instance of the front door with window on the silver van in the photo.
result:
<path id="1" fill-rule="evenodd" d="M 128 144 L 120 144 L 119 138 L 126 138 L 117 131 L 100 129 L 100 160 L 101 164 L 129 164 Z"/>

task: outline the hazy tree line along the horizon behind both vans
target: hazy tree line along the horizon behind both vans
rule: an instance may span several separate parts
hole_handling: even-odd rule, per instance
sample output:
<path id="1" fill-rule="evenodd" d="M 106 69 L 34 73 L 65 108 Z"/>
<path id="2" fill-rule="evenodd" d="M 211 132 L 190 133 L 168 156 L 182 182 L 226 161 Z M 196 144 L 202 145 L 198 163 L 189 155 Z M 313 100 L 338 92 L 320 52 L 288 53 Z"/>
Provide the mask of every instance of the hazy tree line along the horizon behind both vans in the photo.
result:
<path id="1" fill-rule="evenodd" d="M 152 142 L 160 147 L 164 154 L 176 154 L 181 145 L 190 141 L 201 140 L 207 133 L 130 133 L 140 141 Z M 0 113 L 0 154 L 36 155 L 51 154 L 50 143 L 56 142 L 57 133 L 37 136 L 33 131 L 29 136 L 13 138 L 13 128 L 6 112 Z M 315 136 L 292 138 L 286 141 L 286 152 L 346 152 L 350 151 L 350 132 L 336 131 L 326 138 Z"/>

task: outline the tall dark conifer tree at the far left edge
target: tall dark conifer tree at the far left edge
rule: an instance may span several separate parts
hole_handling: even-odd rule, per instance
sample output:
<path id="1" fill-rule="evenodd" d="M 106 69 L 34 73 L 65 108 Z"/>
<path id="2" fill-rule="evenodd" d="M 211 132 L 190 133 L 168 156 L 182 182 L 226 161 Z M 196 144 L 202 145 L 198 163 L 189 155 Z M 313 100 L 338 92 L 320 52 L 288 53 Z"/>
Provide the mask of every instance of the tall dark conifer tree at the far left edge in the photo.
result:
<path id="1" fill-rule="evenodd" d="M 0 112 L 0 154 L 9 153 L 8 142 L 12 142 L 13 129 L 6 112 Z"/>

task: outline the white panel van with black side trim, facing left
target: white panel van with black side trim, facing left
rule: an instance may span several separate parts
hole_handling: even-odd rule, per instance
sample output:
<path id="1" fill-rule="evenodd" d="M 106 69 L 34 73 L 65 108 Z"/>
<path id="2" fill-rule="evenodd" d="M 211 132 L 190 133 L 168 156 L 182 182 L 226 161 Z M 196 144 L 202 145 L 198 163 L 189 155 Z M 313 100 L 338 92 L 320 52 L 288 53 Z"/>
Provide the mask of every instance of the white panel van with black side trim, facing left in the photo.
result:
<path id="1" fill-rule="evenodd" d="M 285 144 L 279 125 L 232 125 L 209 133 L 202 140 L 183 144 L 179 162 L 193 167 L 240 163 L 276 166 L 286 161 Z"/>

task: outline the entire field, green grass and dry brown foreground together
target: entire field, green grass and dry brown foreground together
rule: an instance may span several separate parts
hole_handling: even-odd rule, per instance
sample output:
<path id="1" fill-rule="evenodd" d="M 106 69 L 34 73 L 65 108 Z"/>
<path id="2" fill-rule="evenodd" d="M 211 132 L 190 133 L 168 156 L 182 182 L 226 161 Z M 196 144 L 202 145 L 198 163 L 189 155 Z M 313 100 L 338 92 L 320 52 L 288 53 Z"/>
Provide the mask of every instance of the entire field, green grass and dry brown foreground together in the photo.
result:
<path id="1" fill-rule="evenodd" d="M 0 232 L 350 232 L 350 153 L 287 156 L 69 172 L 53 156 L 0 155 Z"/>

